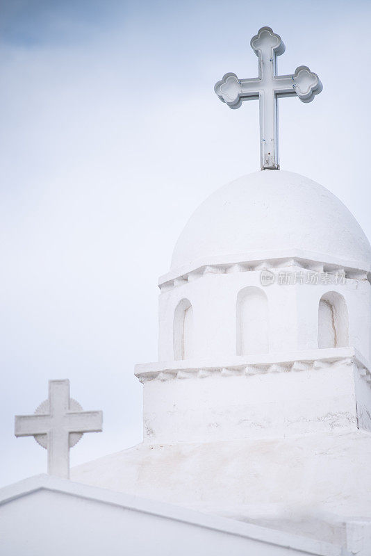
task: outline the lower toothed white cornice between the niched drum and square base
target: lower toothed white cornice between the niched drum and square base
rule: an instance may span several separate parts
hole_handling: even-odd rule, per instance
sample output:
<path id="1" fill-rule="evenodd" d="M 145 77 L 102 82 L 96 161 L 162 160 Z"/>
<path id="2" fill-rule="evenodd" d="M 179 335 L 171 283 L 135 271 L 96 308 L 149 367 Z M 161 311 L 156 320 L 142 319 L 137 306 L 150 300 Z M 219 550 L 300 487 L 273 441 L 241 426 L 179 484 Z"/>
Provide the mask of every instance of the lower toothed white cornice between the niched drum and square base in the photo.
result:
<path id="1" fill-rule="evenodd" d="M 135 366 L 135 376 L 142 383 L 157 380 L 204 379 L 207 377 L 250 377 L 267 373 L 300 373 L 308 370 L 354 365 L 361 377 L 371 383 L 370 364 L 353 347 L 334 347 L 288 354 L 267 354 L 261 358 L 233 357 L 229 363 L 215 361 L 170 361 Z"/>

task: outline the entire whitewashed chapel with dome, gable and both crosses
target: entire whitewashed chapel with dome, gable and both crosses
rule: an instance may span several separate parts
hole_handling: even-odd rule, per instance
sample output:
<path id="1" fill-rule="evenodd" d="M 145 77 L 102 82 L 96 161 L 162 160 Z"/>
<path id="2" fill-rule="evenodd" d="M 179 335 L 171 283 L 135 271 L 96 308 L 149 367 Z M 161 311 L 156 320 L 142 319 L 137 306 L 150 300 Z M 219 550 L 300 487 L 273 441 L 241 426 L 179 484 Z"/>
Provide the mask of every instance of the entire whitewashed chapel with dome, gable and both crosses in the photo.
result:
<path id="1" fill-rule="evenodd" d="M 215 92 L 259 100 L 261 171 L 197 208 L 160 277 L 143 442 L 69 480 L 101 414 L 51 381 L 15 423 L 49 475 L 1 491 L 1 554 L 371 555 L 371 247 L 327 189 L 279 170 L 277 101 L 313 100 L 318 76 L 280 76 L 268 27 L 251 46 L 258 77 Z"/>

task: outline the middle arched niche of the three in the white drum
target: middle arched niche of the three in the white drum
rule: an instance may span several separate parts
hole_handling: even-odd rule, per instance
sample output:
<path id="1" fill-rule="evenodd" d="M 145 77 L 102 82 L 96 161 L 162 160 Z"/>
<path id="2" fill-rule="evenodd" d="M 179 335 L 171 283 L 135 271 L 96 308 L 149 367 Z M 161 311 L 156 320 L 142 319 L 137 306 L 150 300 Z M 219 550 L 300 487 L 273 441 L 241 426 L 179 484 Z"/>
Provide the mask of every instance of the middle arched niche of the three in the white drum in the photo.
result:
<path id="1" fill-rule="evenodd" d="M 268 302 L 265 292 L 253 286 L 237 296 L 237 354 L 267 353 Z"/>

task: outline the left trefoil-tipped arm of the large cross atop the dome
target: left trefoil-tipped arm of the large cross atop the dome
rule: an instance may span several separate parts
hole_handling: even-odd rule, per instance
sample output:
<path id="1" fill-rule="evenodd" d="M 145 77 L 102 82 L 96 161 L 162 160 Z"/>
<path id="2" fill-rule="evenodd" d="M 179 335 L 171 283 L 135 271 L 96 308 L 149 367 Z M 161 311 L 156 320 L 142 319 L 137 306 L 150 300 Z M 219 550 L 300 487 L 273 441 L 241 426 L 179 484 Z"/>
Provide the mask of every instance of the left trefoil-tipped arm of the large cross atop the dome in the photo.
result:
<path id="1" fill-rule="evenodd" d="M 261 79 L 238 79 L 236 74 L 225 74 L 215 84 L 214 90 L 222 102 L 229 108 L 240 108 L 243 100 L 259 98 Z"/>

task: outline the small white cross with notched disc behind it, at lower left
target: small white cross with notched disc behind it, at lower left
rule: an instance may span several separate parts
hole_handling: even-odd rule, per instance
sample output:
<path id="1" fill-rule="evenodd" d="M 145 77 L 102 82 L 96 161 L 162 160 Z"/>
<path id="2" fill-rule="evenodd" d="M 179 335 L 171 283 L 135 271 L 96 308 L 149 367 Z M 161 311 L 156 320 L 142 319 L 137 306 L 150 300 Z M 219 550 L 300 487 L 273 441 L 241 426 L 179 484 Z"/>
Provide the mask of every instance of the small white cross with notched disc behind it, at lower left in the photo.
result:
<path id="1" fill-rule="evenodd" d="M 15 417 L 15 436 L 33 436 L 48 450 L 48 473 L 69 477 L 69 448 L 84 432 L 101 432 L 101 411 L 83 411 L 69 398 L 69 380 L 49 380 L 49 399 L 34 415 Z"/>

